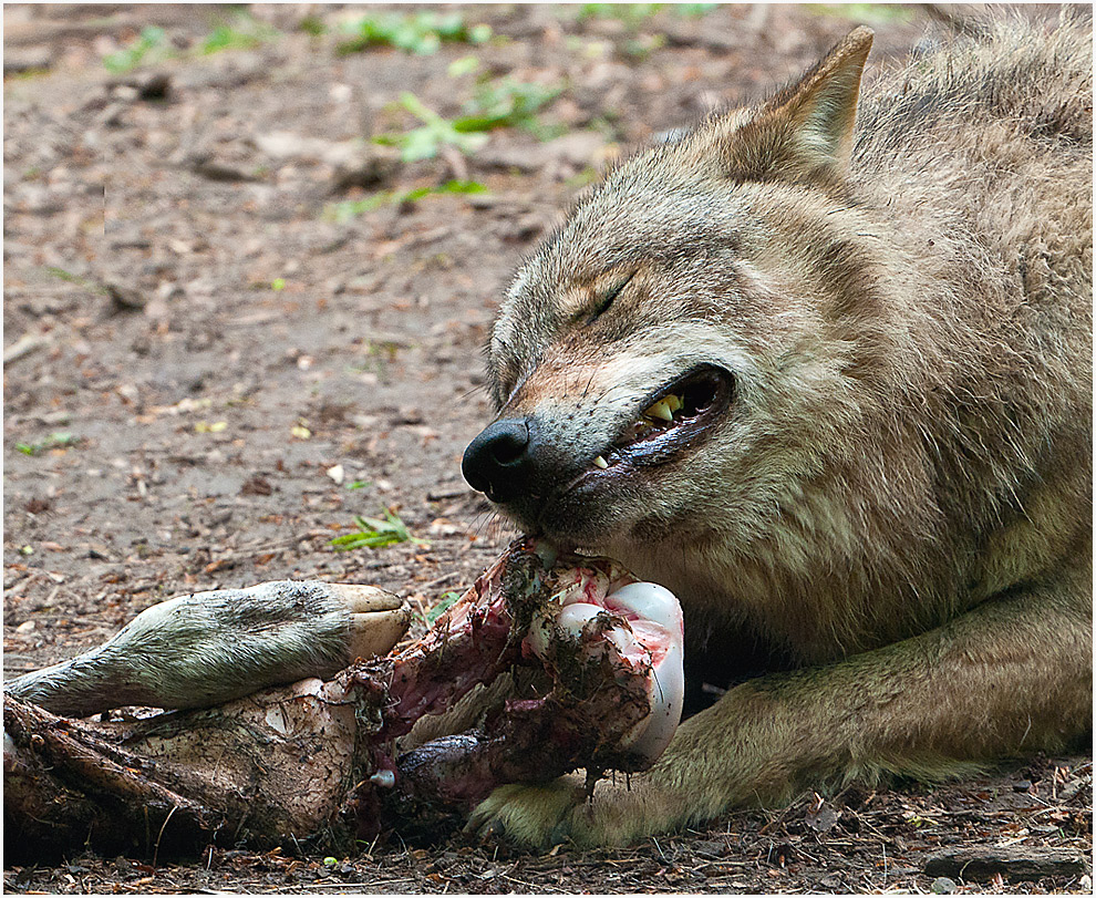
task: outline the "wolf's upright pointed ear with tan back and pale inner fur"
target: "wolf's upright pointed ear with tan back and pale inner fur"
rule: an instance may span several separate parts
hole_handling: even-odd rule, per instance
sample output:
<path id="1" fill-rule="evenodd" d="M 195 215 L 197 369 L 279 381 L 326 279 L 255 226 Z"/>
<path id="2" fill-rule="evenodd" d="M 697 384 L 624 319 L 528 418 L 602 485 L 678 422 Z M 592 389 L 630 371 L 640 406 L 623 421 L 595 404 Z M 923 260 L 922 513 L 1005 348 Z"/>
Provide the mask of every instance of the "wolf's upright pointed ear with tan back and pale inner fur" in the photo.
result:
<path id="1" fill-rule="evenodd" d="M 860 76 L 873 33 L 864 25 L 851 31 L 796 84 L 728 134 L 731 174 L 746 179 L 839 180 L 852 151 Z"/>

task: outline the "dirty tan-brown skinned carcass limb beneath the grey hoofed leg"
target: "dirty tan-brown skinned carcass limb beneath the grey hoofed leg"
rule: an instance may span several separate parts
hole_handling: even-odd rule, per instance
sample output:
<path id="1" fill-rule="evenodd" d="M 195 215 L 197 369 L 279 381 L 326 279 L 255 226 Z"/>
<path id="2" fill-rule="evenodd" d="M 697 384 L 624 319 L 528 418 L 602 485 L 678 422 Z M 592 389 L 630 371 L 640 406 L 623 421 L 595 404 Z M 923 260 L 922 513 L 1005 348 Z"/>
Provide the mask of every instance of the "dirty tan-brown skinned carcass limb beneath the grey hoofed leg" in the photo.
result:
<path id="1" fill-rule="evenodd" d="M 347 797 L 368 694 L 318 679 L 137 721 L 58 718 L 4 695 L 4 827 L 37 861 L 89 842 L 162 856 L 304 842 Z"/>

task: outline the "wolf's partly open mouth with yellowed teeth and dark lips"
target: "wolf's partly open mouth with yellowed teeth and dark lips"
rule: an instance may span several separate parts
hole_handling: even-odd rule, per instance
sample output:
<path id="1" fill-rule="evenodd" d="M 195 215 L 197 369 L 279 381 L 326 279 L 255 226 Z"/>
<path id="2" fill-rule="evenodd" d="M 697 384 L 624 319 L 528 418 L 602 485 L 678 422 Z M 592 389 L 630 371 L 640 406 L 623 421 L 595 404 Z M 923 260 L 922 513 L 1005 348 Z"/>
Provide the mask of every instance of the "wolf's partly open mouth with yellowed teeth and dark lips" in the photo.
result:
<path id="1" fill-rule="evenodd" d="M 648 396 L 643 411 L 568 488 L 600 472 L 662 464 L 694 447 L 722 420 L 733 394 L 725 369 L 704 364 L 686 371 Z"/>

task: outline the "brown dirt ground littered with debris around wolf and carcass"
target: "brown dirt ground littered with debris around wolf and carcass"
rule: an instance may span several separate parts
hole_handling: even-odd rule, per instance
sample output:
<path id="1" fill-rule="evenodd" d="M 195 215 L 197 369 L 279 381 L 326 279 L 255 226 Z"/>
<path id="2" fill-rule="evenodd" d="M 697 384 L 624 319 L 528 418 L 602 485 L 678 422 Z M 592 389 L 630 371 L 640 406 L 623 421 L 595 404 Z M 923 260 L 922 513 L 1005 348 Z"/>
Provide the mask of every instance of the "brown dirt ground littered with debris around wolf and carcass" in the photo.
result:
<path id="1" fill-rule="evenodd" d="M 523 254 L 628 147 L 777 86 L 860 21 L 872 69 L 945 39 L 930 11 L 463 7 L 446 10 L 461 40 L 342 53 L 341 23 L 375 9 L 7 7 L 4 675 L 197 588 L 371 582 L 423 611 L 463 589 L 513 536 L 459 462 Z M 453 120 L 480 82 L 546 102 L 466 154 L 361 141 L 428 117 L 403 92 Z M 449 182 L 482 190 L 430 189 Z M 332 548 L 382 509 L 428 545 Z M 1092 890 L 1085 865 L 926 871 L 961 847 L 1090 857 L 1092 756 L 805 795 L 629 850 L 392 834 L 349 858 L 239 845 L 154 864 L 149 845 L 10 867 L 4 888 Z"/>

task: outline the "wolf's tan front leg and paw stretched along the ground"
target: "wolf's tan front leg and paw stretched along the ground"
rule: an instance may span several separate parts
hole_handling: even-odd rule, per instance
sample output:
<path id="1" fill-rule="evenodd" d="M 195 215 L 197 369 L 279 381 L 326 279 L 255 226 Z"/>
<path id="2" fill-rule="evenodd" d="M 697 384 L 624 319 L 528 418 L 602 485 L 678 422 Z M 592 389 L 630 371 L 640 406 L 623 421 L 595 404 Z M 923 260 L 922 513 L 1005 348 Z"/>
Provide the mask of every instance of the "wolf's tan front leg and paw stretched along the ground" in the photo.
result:
<path id="1" fill-rule="evenodd" d="M 1083 572 L 1082 572 L 1083 574 Z M 544 847 L 625 845 L 733 806 L 886 774 L 942 778 L 1092 729 L 1090 580 L 986 602 L 845 662 L 773 674 L 685 721 L 630 788 L 504 786 L 471 828 Z"/>

